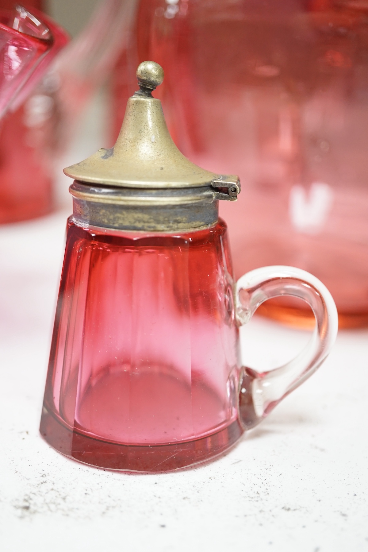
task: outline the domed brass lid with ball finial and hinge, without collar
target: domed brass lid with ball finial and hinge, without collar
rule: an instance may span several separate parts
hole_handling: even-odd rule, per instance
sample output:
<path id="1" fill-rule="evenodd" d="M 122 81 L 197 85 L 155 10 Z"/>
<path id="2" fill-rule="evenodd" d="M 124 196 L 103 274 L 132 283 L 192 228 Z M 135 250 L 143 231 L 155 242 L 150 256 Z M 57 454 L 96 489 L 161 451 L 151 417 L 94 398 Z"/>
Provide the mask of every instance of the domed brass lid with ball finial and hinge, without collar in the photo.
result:
<path id="1" fill-rule="evenodd" d="M 212 185 L 226 191 L 228 199 L 236 199 L 240 191 L 237 176 L 223 177 L 205 171 L 191 163 L 175 146 L 161 102 L 151 94 L 163 81 L 162 67 L 145 61 L 138 66 L 136 75 L 140 90 L 127 102 L 115 146 L 110 150 L 101 148 L 86 160 L 67 167 L 65 174 L 81 182 L 121 188 Z"/>

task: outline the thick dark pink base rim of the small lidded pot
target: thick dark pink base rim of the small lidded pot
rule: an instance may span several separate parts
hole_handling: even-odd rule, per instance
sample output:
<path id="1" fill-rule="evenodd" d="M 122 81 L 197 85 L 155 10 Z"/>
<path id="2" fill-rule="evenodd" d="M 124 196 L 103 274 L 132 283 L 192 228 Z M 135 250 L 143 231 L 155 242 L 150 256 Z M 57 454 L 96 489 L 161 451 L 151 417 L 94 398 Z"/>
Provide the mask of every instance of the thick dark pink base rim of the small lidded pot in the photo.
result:
<path id="1" fill-rule="evenodd" d="M 58 452 L 82 464 L 117 471 L 160 473 L 189 468 L 225 453 L 243 433 L 238 420 L 201 439 L 152 446 L 109 443 L 78 433 L 57 420 L 44 406 L 41 436 Z"/>

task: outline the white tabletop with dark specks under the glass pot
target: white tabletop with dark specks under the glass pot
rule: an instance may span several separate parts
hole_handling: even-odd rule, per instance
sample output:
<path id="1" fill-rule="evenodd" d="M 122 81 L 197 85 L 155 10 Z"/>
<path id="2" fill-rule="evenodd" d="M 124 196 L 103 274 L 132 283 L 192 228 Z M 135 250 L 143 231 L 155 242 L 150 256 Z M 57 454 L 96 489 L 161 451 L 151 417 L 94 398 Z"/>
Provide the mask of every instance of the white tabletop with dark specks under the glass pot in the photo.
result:
<path id="1" fill-rule="evenodd" d="M 161 475 L 89 468 L 39 436 L 66 214 L 0 227 L 0 546 L 6 552 L 368 550 L 368 331 L 211 464 Z M 262 319 L 244 363 L 308 334 Z"/>

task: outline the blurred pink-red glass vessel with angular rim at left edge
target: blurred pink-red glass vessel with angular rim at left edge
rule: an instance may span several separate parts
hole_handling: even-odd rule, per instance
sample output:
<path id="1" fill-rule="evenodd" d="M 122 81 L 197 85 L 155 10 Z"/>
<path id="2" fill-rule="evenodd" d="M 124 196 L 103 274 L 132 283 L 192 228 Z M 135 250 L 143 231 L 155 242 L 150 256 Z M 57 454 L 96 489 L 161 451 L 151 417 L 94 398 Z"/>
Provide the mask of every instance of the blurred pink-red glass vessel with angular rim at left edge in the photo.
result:
<path id="1" fill-rule="evenodd" d="M 27 98 L 68 39 L 44 14 L 29 9 L 0 10 L 0 222 L 40 216 L 52 207 L 55 82 L 44 79 Z M 9 108 L 15 113 L 6 113 Z"/>

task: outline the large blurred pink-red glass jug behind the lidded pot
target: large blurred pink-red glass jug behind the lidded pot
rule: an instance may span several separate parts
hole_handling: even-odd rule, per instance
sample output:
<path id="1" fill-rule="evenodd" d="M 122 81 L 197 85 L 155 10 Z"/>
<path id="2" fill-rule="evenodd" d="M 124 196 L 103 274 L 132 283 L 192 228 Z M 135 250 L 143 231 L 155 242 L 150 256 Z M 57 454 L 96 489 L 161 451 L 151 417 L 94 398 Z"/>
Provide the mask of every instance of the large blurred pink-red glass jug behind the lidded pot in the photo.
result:
<path id="1" fill-rule="evenodd" d="M 241 177 L 238 203 L 220 207 L 236 276 L 306 269 L 342 326 L 368 323 L 367 22 L 350 0 L 141 0 L 136 31 L 139 61 L 167 68 L 159 97 L 180 150 Z M 290 300 L 265 311 L 312 316 Z"/>

